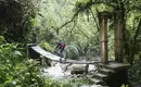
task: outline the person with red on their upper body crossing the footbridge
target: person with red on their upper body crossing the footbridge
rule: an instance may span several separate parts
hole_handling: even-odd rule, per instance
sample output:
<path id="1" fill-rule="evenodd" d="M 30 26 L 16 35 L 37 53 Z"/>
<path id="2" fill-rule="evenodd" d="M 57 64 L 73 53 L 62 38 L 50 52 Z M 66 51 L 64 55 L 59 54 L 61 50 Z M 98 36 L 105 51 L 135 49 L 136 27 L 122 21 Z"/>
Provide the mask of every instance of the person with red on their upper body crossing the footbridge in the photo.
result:
<path id="1" fill-rule="evenodd" d="M 59 53 L 60 53 L 60 57 L 61 57 L 60 62 L 62 62 L 62 59 L 64 58 L 63 52 L 64 52 L 64 49 L 65 49 L 65 42 L 64 41 L 60 41 L 55 48 L 59 49 Z"/>

